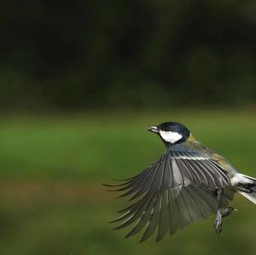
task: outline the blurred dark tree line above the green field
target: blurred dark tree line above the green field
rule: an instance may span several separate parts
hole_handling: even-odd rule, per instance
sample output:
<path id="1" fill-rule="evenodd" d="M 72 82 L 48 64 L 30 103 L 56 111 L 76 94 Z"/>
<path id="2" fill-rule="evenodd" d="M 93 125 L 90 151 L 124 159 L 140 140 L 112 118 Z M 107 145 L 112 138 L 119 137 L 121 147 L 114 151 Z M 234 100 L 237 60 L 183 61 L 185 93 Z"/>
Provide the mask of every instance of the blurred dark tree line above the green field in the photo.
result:
<path id="1" fill-rule="evenodd" d="M 9 0 L 0 19 L 2 109 L 256 101 L 253 0 Z"/>

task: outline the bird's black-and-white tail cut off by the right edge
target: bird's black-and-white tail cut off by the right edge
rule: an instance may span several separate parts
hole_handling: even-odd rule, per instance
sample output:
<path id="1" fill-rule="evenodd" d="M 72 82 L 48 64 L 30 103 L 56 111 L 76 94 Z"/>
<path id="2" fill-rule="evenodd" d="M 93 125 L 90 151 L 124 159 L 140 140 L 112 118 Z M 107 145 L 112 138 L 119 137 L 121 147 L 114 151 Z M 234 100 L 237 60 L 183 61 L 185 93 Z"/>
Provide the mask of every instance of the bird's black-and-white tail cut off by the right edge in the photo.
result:
<path id="1" fill-rule="evenodd" d="M 243 182 L 238 186 L 239 193 L 256 205 L 256 179 L 242 174 Z"/>

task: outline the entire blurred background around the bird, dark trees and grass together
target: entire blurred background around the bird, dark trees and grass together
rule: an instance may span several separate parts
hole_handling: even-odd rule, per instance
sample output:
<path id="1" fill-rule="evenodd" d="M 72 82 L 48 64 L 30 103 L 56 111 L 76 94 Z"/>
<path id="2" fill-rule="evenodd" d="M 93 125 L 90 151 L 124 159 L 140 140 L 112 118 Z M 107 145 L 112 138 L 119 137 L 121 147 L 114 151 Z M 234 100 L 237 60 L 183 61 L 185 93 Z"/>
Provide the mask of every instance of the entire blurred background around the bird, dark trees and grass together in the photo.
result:
<path id="1" fill-rule="evenodd" d="M 165 150 L 175 120 L 256 177 L 254 1 L 17 1 L 0 9 L 0 254 L 255 254 L 256 206 L 160 243 L 108 224 L 102 183 Z"/>

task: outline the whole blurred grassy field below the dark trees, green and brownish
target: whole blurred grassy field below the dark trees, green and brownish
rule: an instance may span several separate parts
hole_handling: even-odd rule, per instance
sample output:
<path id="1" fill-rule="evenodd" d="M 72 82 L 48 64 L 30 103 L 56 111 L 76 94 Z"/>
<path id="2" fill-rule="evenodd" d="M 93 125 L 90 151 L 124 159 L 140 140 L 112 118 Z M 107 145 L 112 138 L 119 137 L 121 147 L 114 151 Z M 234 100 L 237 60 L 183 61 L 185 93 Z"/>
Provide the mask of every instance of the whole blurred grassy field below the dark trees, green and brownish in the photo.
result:
<path id="1" fill-rule="evenodd" d="M 102 183 L 131 177 L 164 151 L 148 125 L 176 120 L 256 177 L 256 113 L 78 113 L 2 116 L 0 120 L 0 254 L 255 254 L 256 206 L 237 196 L 238 209 L 215 235 L 213 217 L 164 241 L 139 244 L 108 221 L 125 200 Z"/>

